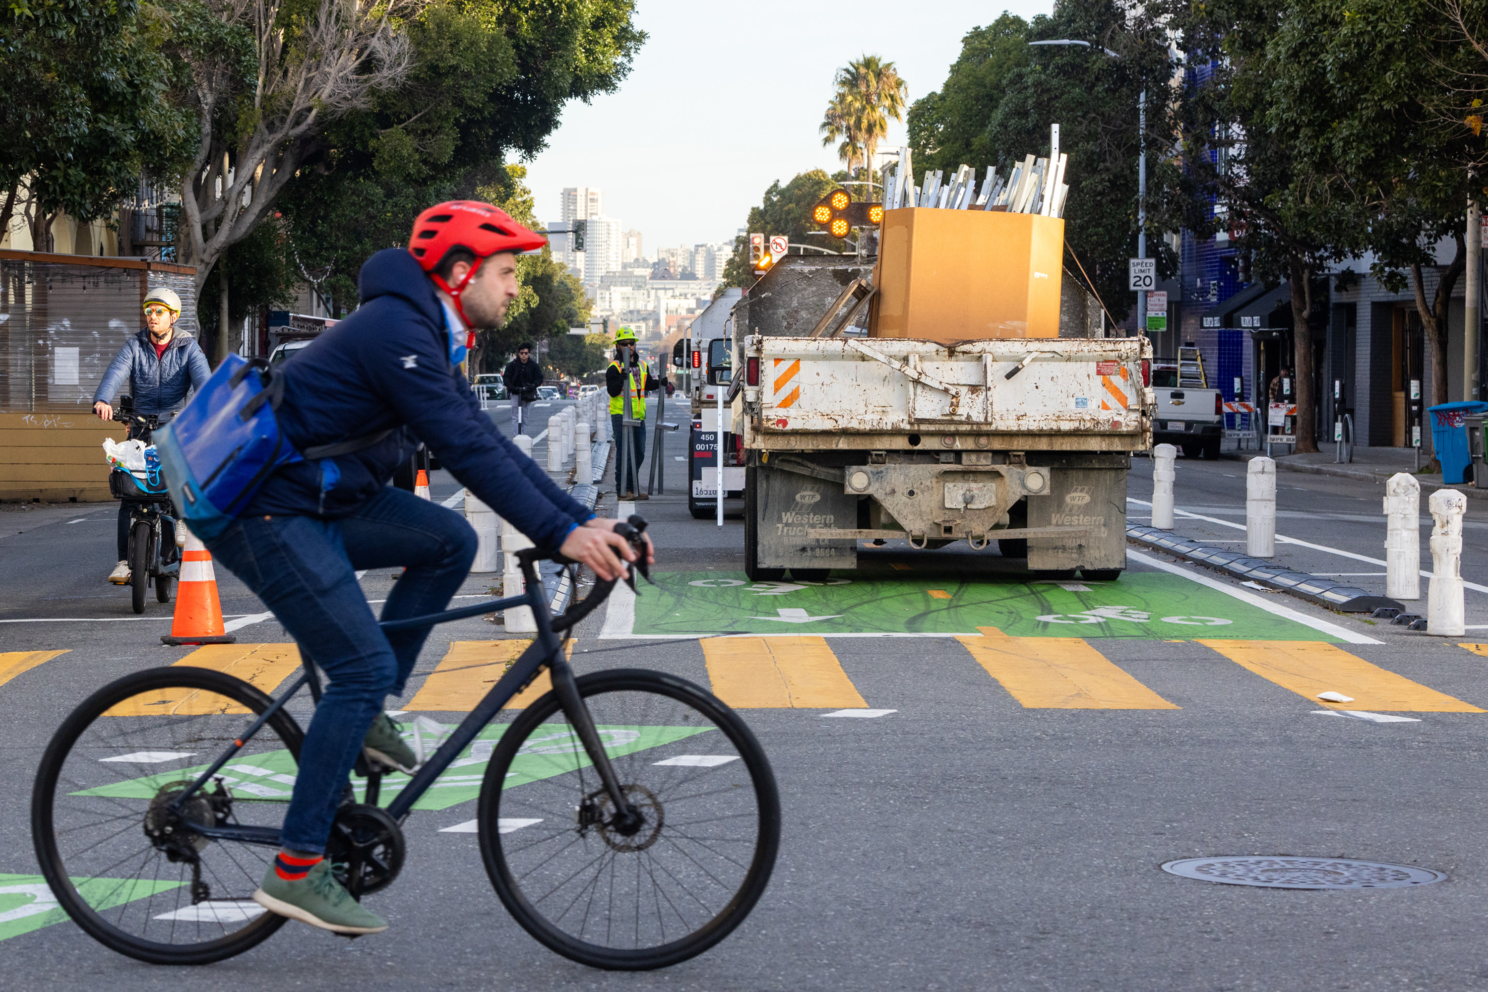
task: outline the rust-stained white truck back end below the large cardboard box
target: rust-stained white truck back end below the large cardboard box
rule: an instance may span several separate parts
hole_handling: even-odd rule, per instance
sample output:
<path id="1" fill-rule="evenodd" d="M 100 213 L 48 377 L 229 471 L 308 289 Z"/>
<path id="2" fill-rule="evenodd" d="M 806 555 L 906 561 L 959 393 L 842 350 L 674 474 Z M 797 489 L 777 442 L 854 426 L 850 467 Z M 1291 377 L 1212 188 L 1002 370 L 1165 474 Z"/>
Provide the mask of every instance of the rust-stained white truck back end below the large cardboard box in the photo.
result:
<path id="1" fill-rule="evenodd" d="M 1048 577 L 1125 568 L 1126 471 L 1152 430 L 1146 338 L 741 344 L 750 579 L 824 579 L 891 538 L 995 540 Z"/>

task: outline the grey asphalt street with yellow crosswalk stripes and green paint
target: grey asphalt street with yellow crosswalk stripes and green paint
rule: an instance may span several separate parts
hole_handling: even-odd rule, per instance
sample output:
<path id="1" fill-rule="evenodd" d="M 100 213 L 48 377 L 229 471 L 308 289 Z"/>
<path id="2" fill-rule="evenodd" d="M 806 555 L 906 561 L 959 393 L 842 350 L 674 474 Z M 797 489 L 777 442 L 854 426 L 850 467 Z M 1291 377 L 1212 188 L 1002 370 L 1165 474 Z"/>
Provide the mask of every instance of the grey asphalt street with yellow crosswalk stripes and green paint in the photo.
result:
<path id="1" fill-rule="evenodd" d="M 1150 466 L 1137 461 L 1134 516 L 1147 513 L 1147 479 Z M 433 489 L 445 501 L 458 486 L 436 473 Z M 604 489 L 601 509 L 615 513 L 613 483 Z M 1180 516 L 1180 532 L 1242 537 L 1213 524 L 1242 524 L 1235 463 L 1180 461 L 1177 492 L 1195 515 Z M 1278 531 L 1306 544 L 1283 543 L 1278 556 L 1309 571 L 1384 571 L 1350 558 L 1382 558 L 1379 495 L 1283 474 Z M 780 860 L 728 940 L 640 974 L 552 955 L 497 901 L 476 834 L 446 831 L 475 817 L 466 800 L 406 821 L 403 873 L 368 901 L 390 919 L 385 934 L 347 941 L 292 922 L 235 959 L 186 973 L 106 950 L 37 891 L 33 773 L 92 689 L 193 663 L 193 648 L 161 645 L 170 607 L 152 601 L 135 617 L 128 592 L 104 583 L 113 506 L 4 506 L 4 986 L 1488 988 L 1488 790 L 1478 781 L 1488 684 L 1484 656 L 1461 647 L 1476 632 L 1442 640 L 1344 617 L 1135 549 L 1115 583 L 1039 582 L 995 550 L 964 546 L 865 550 L 859 573 L 823 584 L 751 583 L 740 521 L 693 521 L 677 489 L 634 509 L 653 521 L 656 584 L 586 620 L 573 663 L 692 680 L 732 703 L 768 751 L 784 811 Z M 1485 526 L 1470 504 L 1463 571 L 1488 584 Z M 225 570 L 217 579 L 240 656 L 286 641 L 241 583 Z M 461 595 L 472 598 L 460 602 L 497 580 L 470 576 Z M 373 602 L 391 582 L 387 570 L 362 577 Z M 1488 595 L 1467 595 L 1469 623 L 1488 625 Z M 503 640 L 479 617 L 437 628 L 408 696 L 390 708 L 457 721 L 458 709 L 414 709 L 417 695 L 452 651 L 498 657 Z M 216 663 L 232 671 L 231 657 Z M 452 672 L 460 692 L 446 699 L 484 692 L 488 668 L 461 671 L 472 674 Z M 1202 855 L 1360 858 L 1445 880 L 1301 891 L 1161 869 Z"/>

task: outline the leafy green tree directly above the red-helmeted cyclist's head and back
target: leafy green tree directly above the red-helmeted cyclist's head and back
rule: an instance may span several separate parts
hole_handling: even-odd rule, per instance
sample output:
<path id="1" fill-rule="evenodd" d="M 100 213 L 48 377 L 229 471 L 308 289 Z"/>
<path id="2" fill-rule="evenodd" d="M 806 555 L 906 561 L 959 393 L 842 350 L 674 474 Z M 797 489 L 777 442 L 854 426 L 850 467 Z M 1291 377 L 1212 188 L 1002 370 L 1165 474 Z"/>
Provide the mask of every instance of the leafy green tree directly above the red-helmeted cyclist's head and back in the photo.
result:
<path id="1" fill-rule="evenodd" d="M 420 210 L 504 189 L 509 152 L 536 155 L 564 103 L 619 86 L 646 39 L 632 6 L 467 0 L 406 24 L 403 85 L 327 128 L 281 201 L 299 260 L 326 274 L 338 311 L 356 305 L 366 257 L 406 244 Z"/>

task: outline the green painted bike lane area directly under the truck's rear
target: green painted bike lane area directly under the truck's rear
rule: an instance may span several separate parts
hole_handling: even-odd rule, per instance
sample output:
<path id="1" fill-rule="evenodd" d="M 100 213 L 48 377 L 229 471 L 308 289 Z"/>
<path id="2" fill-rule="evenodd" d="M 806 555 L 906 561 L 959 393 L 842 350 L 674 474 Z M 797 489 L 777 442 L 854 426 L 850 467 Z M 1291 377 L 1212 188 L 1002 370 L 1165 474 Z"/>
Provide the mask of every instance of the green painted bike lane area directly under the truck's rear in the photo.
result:
<path id="1" fill-rule="evenodd" d="M 1242 641 L 1338 641 L 1167 573 L 1117 582 L 829 579 L 750 582 L 743 573 L 656 573 L 635 598 L 632 637 L 726 634 L 976 634 Z"/>

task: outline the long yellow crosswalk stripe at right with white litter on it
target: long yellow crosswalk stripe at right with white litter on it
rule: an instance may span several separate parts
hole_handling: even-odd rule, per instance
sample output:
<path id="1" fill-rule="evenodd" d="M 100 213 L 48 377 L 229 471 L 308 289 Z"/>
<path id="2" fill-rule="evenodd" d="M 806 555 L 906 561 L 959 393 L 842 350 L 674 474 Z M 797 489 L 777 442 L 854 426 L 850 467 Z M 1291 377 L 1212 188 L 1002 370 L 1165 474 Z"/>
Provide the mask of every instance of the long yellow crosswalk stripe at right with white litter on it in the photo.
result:
<path id="1" fill-rule="evenodd" d="M 1308 702 L 1329 709 L 1484 712 L 1461 699 L 1414 683 L 1323 641 L 1198 641 Z M 1324 702 L 1336 692 L 1351 702 Z"/>

